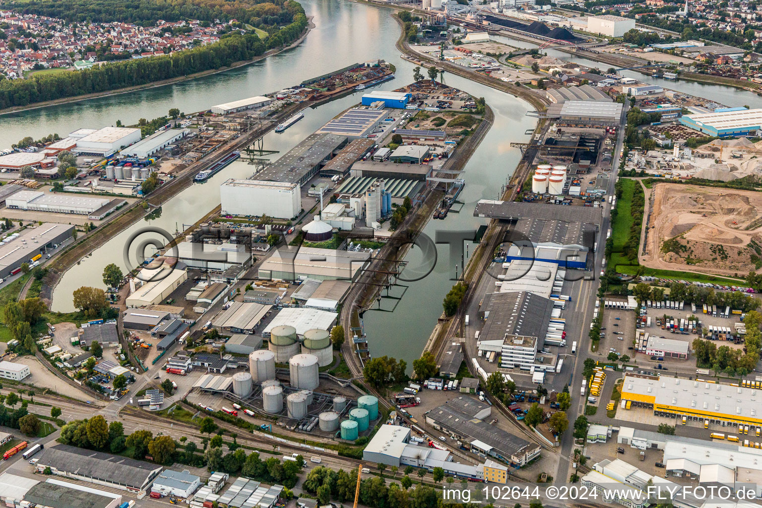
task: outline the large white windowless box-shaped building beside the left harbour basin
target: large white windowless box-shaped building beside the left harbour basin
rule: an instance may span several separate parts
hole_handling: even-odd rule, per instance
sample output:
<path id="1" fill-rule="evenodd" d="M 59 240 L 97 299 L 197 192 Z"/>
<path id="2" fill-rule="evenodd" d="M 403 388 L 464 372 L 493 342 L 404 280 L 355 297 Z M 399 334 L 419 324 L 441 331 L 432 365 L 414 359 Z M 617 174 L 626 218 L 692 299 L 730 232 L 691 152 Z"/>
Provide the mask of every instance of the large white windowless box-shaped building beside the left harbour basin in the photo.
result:
<path id="1" fill-rule="evenodd" d="M 301 186 L 291 182 L 231 178 L 219 186 L 219 199 L 223 213 L 237 216 L 291 219 L 302 209 Z"/>

